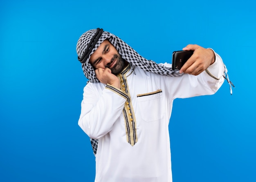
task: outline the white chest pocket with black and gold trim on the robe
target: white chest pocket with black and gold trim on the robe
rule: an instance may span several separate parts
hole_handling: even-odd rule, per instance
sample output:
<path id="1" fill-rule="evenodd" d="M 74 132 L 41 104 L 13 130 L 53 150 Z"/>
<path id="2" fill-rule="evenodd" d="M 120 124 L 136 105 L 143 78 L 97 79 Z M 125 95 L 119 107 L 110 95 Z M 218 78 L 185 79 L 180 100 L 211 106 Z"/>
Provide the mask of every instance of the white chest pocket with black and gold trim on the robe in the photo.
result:
<path id="1" fill-rule="evenodd" d="M 164 116 L 162 90 L 137 95 L 141 118 L 146 122 L 160 120 Z"/>

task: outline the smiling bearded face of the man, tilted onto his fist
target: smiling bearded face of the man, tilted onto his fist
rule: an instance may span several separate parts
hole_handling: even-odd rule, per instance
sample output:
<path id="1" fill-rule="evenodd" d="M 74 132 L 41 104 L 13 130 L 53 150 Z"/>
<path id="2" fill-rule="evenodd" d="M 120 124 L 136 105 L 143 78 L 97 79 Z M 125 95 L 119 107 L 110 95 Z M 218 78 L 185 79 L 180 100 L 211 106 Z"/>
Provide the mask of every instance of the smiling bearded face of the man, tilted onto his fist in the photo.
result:
<path id="1" fill-rule="evenodd" d="M 89 62 L 94 69 L 111 69 L 111 73 L 114 75 L 119 74 L 126 66 L 126 61 L 108 40 L 104 40 L 100 44 L 97 50 L 91 55 Z"/>

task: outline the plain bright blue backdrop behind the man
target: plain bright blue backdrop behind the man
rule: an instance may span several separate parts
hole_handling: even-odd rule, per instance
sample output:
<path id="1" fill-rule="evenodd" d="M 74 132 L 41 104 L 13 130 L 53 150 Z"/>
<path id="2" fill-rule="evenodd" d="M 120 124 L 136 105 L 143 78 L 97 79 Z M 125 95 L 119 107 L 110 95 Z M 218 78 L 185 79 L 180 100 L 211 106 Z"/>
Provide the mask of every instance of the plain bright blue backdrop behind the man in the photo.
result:
<path id="1" fill-rule="evenodd" d="M 187 44 L 220 54 L 236 88 L 175 100 L 173 182 L 255 182 L 255 22 L 253 0 L 1 1 L 0 181 L 94 181 L 76 42 L 100 27 L 156 62 Z"/>

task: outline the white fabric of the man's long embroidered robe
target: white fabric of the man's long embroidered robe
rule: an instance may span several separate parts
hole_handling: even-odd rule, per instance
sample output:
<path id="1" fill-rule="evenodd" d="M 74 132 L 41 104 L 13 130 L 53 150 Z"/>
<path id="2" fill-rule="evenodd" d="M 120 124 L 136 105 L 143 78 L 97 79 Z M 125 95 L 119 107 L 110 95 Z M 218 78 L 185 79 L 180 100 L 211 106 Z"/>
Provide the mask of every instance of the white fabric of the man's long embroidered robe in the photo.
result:
<path id="1" fill-rule="evenodd" d="M 84 88 L 79 126 L 90 138 L 99 139 L 95 182 L 172 182 L 168 124 L 173 100 L 216 93 L 224 81 L 218 54 L 208 71 L 220 79 L 205 71 L 198 76 L 168 77 L 135 67 L 134 73 L 126 73 L 136 117 L 138 141 L 134 146 L 127 142 L 126 98 L 117 88 L 89 82 Z M 137 97 L 160 89 L 160 93 Z"/>

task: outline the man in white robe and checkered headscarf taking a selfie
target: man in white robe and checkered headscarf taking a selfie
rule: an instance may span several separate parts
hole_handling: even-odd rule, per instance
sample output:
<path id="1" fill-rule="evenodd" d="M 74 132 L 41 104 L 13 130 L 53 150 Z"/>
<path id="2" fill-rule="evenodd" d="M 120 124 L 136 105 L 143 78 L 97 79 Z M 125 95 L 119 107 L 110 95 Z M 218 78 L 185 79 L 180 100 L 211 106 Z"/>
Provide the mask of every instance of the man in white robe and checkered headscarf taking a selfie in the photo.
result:
<path id="1" fill-rule="evenodd" d="M 212 49 L 187 45 L 180 71 L 139 55 L 117 36 L 93 29 L 76 51 L 88 84 L 79 126 L 91 138 L 95 182 L 171 182 L 168 123 L 175 98 L 211 95 L 226 68 Z"/>

